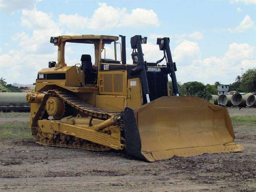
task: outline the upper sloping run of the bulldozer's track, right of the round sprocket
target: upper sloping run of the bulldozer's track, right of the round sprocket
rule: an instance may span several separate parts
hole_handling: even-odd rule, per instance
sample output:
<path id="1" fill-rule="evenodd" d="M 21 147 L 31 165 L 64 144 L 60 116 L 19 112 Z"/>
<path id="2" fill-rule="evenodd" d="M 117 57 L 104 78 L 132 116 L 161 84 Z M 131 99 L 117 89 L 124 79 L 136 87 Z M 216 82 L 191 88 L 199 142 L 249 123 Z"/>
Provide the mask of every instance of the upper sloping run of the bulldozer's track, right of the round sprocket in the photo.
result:
<path id="1" fill-rule="evenodd" d="M 108 119 L 115 114 L 120 115 L 120 112 L 108 111 L 108 110 L 94 107 L 89 103 L 86 103 L 83 100 L 77 98 L 74 94 L 68 93 L 67 91 L 52 90 L 52 91 L 49 91 L 48 93 L 55 93 L 57 96 L 63 99 L 63 101 L 68 105 L 92 117 Z"/>

